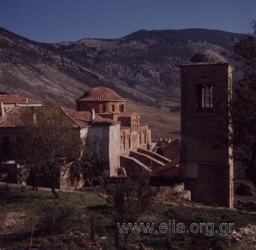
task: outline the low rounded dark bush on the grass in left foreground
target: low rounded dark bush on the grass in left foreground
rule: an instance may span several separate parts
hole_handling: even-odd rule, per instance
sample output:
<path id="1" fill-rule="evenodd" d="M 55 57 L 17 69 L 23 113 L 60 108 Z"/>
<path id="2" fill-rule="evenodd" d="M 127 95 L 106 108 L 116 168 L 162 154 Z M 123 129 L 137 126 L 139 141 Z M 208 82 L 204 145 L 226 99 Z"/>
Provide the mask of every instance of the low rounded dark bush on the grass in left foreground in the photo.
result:
<path id="1" fill-rule="evenodd" d="M 71 228 L 77 218 L 81 218 L 73 206 L 58 201 L 42 204 L 36 212 L 38 230 L 47 235 L 61 234 Z"/>

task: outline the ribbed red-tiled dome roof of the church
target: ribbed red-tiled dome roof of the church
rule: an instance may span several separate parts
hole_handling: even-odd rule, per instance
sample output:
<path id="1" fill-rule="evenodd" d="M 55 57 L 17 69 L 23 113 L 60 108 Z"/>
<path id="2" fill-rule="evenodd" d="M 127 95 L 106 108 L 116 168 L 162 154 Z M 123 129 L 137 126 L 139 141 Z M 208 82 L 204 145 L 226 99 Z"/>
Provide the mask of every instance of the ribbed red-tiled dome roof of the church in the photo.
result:
<path id="1" fill-rule="evenodd" d="M 94 87 L 86 91 L 77 101 L 124 101 L 124 99 L 112 89 Z"/>

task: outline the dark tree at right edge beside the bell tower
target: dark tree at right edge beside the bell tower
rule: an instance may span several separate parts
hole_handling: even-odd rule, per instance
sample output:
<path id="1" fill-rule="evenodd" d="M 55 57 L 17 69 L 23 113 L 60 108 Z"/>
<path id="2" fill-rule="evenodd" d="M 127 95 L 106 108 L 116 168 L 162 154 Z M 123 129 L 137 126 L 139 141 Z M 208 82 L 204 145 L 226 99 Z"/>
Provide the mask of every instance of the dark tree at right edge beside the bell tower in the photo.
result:
<path id="1" fill-rule="evenodd" d="M 243 36 L 234 46 L 238 62 L 238 80 L 231 105 L 234 159 L 245 165 L 245 171 L 256 185 L 256 20 L 253 33 Z"/>

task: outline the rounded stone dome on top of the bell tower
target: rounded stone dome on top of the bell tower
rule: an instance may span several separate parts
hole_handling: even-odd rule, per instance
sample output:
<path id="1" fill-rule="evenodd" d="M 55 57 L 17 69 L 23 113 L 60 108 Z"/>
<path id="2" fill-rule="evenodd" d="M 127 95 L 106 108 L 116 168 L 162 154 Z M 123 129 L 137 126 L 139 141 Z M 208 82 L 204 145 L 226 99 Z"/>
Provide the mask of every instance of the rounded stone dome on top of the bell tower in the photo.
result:
<path id="1" fill-rule="evenodd" d="M 226 60 L 220 54 L 211 50 L 201 51 L 190 59 L 190 63 L 226 63 Z"/>

